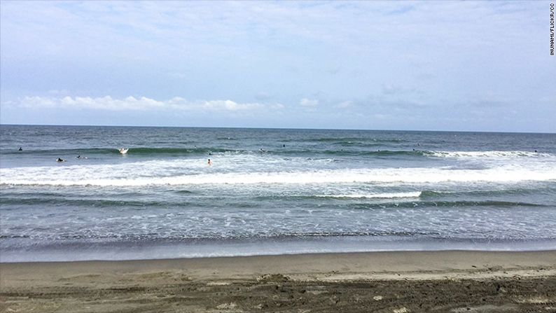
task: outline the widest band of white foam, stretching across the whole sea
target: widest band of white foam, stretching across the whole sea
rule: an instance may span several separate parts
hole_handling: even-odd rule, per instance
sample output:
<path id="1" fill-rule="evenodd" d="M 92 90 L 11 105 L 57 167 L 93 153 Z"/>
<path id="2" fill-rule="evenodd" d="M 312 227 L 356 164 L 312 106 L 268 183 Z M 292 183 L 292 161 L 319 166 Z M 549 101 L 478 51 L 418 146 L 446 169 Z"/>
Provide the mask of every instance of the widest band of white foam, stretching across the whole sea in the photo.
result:
<path id="1" fill-rule="evenodd" d="M 440 183 L 440 182 L 518 182 L 554 181 L 556 165 L 489 169 L 380 168 L 286 170 L 284 172 L 218 172 L 211 168 L 186 172 L 153 162 L 122 165 L 74 167 L 24 167 L 0 169 L 1 183 L 13 185 L 60 186 L 148 186 L 199 184 L 274 184 L 274 183 Z M 158 174 L 158 175 L 157 175 Z"/>

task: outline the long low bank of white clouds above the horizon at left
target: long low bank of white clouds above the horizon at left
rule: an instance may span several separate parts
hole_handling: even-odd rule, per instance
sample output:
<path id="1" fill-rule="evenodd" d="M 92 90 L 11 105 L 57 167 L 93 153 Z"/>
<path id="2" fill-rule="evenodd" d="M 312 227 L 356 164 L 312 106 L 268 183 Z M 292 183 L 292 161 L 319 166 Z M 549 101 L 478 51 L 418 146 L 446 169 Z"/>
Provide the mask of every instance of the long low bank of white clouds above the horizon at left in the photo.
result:
<path id="1" fill-rule="evenodd" d="M 259 109 L 283 109 L 283 104 L 237 103 L 232 100 L 188 101 L 181 97 L 160 101 L 147 97 L 24 97 L 15 105 L 24 108 L 95 109 L 104 111 L 250 111 Z"/>

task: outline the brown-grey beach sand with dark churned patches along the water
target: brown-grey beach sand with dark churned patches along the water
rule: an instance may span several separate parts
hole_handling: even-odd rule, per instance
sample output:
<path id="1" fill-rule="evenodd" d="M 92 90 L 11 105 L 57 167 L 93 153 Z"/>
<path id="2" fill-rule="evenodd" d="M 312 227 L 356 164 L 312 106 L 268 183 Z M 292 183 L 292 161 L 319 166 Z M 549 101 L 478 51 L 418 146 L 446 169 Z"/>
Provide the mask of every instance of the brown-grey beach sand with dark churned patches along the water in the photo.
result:
<path id="1" fill-rule="evenodd" d="M 0 264 L 0 312 L 556 312 L 556 251 Z"/>

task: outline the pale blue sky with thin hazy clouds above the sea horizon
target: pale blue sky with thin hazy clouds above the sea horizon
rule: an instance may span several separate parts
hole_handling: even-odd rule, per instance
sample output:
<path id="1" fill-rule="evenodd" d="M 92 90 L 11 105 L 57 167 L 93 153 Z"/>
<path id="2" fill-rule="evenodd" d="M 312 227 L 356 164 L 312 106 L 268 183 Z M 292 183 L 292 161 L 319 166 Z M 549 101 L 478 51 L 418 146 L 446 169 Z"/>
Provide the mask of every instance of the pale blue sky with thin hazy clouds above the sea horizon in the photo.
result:
<path id="1" fill-rule="evenodd" d="M 0 1 L 0 123 L 556 132 L 550 1 Z"/>

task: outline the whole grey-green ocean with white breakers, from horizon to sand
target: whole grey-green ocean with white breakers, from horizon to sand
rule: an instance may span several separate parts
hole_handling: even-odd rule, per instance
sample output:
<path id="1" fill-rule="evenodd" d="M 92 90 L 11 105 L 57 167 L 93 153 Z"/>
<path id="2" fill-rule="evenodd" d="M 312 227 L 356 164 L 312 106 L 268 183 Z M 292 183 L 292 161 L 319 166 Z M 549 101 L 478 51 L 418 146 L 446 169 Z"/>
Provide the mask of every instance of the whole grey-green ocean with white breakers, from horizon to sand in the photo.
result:
<path id="1" fill-rule="evenodd" d="M 0 135 L 2 262 L 556 249 L 556 134 L 0 125 Z"/>

